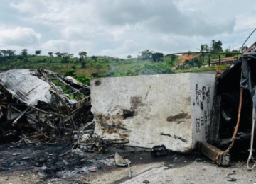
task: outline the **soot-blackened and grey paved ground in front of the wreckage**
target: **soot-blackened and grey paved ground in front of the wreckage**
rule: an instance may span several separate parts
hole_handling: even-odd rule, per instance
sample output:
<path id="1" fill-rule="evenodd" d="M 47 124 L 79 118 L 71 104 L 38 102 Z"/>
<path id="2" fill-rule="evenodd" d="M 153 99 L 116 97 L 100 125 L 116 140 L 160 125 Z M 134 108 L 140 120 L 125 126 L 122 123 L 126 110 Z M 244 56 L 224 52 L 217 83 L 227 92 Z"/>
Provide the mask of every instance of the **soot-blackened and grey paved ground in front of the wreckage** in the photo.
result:
<path id="1" fill-rule="evenodd" d="M 105 154 L 84 152 L 73 144 L 4 144 L 0 146 L 0 183 L 256 183 L 255 170 L 247 172 L 245 157 L 234 152 L 231 167 L 212 163 L 198 152 L 151 156 L 150 150 L 132 147 L 107 149 Z M 238 151 L 238 150 L 237 150 Z M 132 161 L 128 168 L 114 165 L 115 152 Z M 107 158 L 107 159 L 106 159 Z"/>

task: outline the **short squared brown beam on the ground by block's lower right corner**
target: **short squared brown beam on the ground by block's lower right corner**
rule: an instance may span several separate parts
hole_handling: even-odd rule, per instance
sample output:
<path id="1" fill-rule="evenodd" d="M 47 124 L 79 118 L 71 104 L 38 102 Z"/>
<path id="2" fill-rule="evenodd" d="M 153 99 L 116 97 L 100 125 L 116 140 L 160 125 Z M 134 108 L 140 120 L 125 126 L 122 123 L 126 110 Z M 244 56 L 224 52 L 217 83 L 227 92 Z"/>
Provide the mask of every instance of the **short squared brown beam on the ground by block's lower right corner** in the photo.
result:
<path id="1" fill-rule="evenodd" d="M 223 151 L 206 142 L 197 142 L 196 149 L 209 159 L 221 166 L 230 166 L 230 154 L 223 154 Z"/>

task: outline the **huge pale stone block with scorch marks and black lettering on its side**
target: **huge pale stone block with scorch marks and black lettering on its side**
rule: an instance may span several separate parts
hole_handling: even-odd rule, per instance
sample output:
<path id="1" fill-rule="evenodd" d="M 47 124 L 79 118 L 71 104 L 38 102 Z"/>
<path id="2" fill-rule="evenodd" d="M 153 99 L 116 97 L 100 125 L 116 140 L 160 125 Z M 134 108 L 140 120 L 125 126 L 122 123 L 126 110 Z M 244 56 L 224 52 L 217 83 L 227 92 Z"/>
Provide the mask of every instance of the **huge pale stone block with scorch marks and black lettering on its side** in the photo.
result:
<path id="1" fill-rule="evenodd" d="M 208 139 L 214 84 L 213 74 L 190 73 L 93 79 L 95 133 L 191 151 Z"/>

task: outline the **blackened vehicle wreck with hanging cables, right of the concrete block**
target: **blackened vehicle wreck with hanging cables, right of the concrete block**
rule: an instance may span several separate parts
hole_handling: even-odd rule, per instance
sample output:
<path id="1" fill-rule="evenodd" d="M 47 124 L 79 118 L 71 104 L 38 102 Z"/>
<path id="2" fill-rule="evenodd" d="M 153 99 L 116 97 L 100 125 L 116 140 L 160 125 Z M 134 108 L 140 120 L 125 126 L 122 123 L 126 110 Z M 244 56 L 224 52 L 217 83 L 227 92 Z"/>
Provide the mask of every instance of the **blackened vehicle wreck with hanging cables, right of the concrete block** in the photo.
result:
<path id="1" fill-rule="evenodd" d="M 256 43 L 242 54 L 217 80 L 216 96 L 221 98 L 218 139 L 251 139 L 247 168 L 255 167 L 252 157 L 255 132 Z M 231 137 L 231 139 L 230 139 Z M 221 145 L 221 143 L 220 143 Z"/>

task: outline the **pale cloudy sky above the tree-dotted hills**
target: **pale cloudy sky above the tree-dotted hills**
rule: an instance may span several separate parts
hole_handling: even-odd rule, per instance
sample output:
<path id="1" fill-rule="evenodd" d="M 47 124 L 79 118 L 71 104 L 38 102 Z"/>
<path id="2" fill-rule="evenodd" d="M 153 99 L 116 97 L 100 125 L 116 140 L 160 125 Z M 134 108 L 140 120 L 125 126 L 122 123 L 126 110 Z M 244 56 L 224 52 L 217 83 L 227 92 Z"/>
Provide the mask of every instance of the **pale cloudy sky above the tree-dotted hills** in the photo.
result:
<path id="1" fill-rule="evenodd" d="M 0 50 L 137 57 L 238 49 L 256 28 L 255 0 L 0 0 Z M 256 41 L 256 33 L 247 44 Z M 11 43 L 14 45 L 7 45 Z M 31 47 L 36 47 L 31 48 Z"/>

